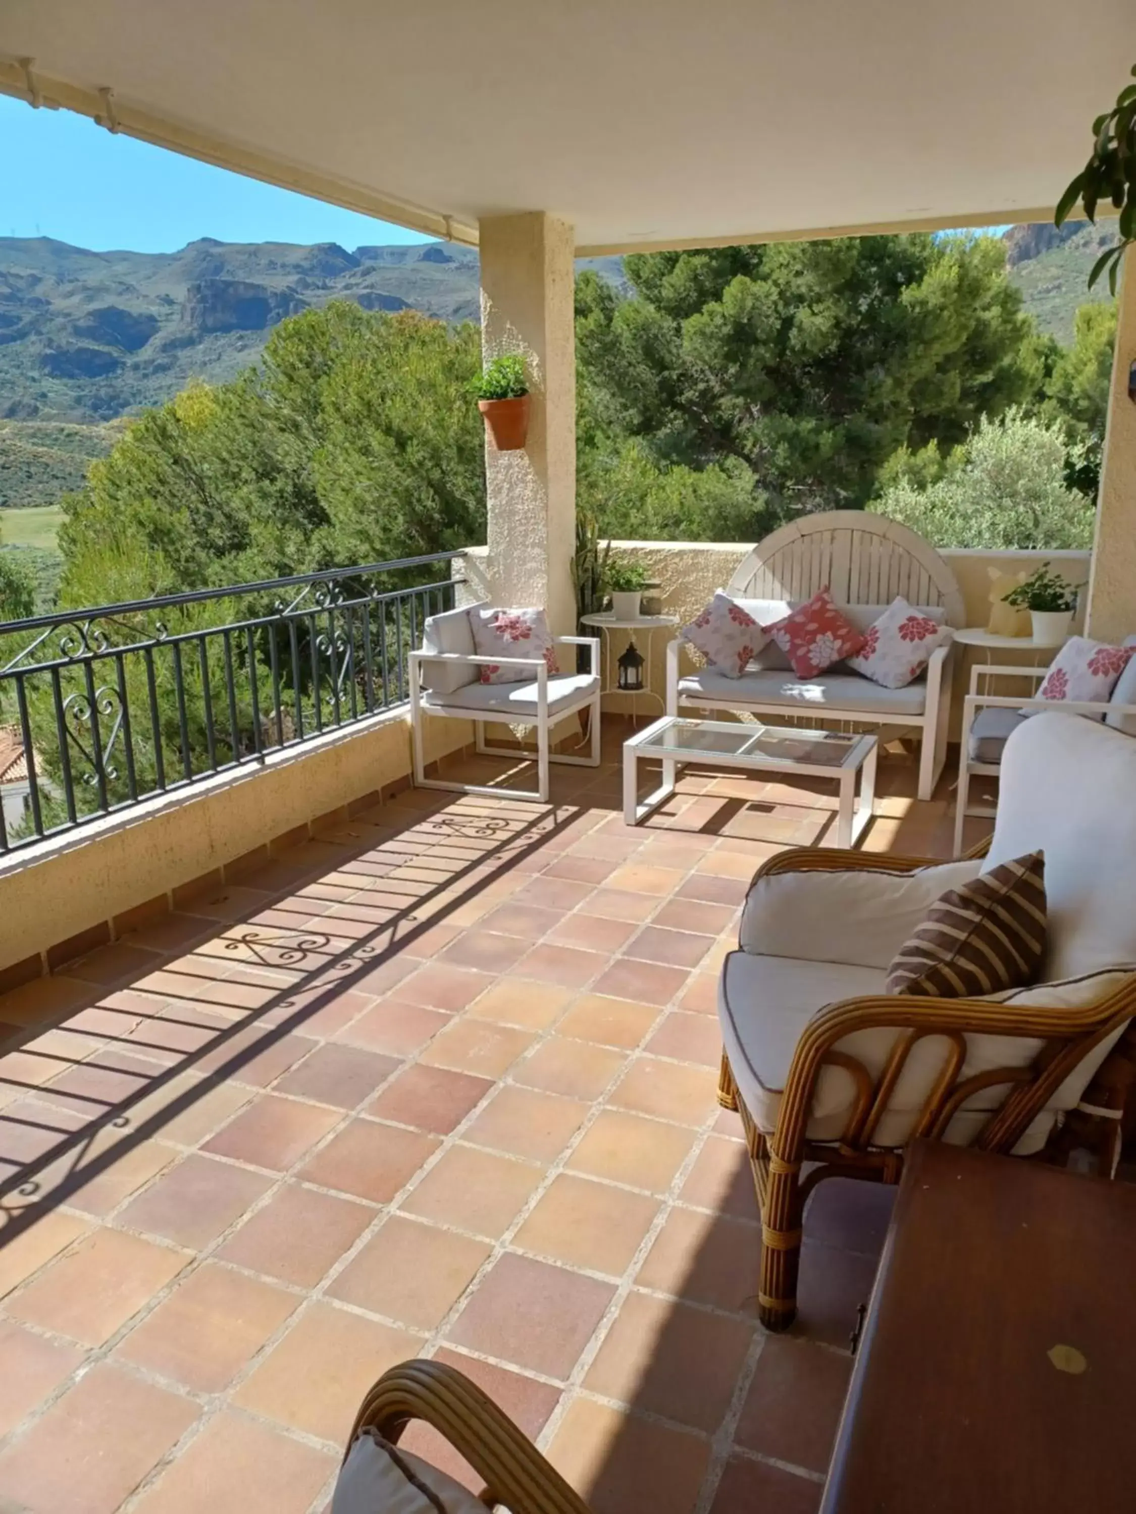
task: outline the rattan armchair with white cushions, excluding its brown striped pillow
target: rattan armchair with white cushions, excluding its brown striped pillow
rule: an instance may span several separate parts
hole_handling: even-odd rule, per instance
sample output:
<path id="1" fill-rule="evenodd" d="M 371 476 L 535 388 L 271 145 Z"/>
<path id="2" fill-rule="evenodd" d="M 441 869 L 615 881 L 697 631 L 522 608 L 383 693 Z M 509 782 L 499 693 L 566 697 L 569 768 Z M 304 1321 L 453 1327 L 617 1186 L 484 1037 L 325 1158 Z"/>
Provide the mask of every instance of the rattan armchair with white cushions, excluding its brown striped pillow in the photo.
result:
<path id="1" fill-rule="evenodd" d="M 885 992 L 941 893 L 1033 851 L 1045 857 L 1044 981 L 969 999 Z M 762 1210 L 766 1326 L 792 1322 L 818 1181 L 898 1182 L 916 1137 L 1045 1149 L 1136 1014 L 1134 884 L 1136 742 L 1057 713 L 1007 740 L 985 858 L 803 848 L 759 871 L 718 1014 L 721 1098 L 742 1114 Z"/>

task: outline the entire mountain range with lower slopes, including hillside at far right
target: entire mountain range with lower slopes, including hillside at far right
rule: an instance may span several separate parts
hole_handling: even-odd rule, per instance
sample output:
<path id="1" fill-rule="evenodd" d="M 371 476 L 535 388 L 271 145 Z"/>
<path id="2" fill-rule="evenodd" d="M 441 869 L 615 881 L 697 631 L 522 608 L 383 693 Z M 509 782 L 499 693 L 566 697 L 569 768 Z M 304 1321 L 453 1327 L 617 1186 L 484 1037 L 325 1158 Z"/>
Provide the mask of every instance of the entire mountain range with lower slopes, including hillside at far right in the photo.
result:
<path id="1" fill-rule="evenodd" d="M 1009 277 L 1059 341 L 1088 298 L 1112 230 L 1072 223 L 1006 233 Z M 619 257 L 583 259 L 624 286 Z M 218 242 L 177 253 L 95 253 L 50 238 L 0 238 L 0 507 L 50 504 L 105 453 L 120 416 L 189 378 L 232 378 L 271 329 L 329 300 L 477 319 L 477 253 L 448 242 Z M 108 424 L 109 422 L 109 424 Z"/>

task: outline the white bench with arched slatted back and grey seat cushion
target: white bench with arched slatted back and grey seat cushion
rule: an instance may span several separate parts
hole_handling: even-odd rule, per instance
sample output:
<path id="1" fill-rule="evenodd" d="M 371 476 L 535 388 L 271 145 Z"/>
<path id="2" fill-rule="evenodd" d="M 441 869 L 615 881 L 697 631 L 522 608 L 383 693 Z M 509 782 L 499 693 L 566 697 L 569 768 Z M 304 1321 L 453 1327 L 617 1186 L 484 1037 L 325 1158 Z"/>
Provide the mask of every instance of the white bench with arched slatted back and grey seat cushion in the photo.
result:
<path id="1" fill-rule="evenodd" d="M 865 510 L 833 510 L 783 525 L 754 547 L 726 592 L 768 625 L 825 586 L 862 630 L 879 619 L 897 595 L 941 624 L 965 622 L 962 590 L 935 548 L 906 525 Z M 679 715 L 686 706 L 915 730 L 921 737 L 919 798 L 932 798 L 947 760 L 950 643 L 932 656 L 925 674 L 906 689 L 882 689 L 839 666 L 801 680 L 794 677 L 788 659 L 774 645 L 766 646 L 741 678 L 729 678 L 713 668 L 683 675 L 680 657 L 682 643 L 673 640 L 666 653 L 669 715 Z"/>

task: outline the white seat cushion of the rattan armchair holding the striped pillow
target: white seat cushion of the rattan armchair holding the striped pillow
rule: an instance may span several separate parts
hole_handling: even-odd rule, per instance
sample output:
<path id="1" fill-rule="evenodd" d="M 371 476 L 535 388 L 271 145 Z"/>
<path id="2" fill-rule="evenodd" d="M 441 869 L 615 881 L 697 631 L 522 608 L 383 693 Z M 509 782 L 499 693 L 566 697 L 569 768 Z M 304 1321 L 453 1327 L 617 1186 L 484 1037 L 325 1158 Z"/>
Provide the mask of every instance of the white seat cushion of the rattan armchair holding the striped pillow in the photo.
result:
<path id="1" fill-rule="evenodd" d="M 1089 974 L 1066 983 L 1039 984 L 992 995 L 995 1002 L 1021 1005 L 1072 1007 L 1094 1004 L 1115 993 L 1131 969 Z M 722 1045 L 730 1060 L 738 1092 L 760 1131 L 771 1134 L 777 1126 L 782 1093 L 789 1076 L 794 1052 L 809 1020 L 825 1005 L 841 999 L 883 993 L 886 974 L 875 967 L 844 963 L 804 961 L 795 957 L 756 957 L 736 951 L 726 958 L 718 989 L 718 1019 Z M 913 999 L 912 1008 L 932 1008 L 925 999 Z M 1086 1057 L 1050 1099 L 1015 1146 L 1025 1157 L 1041 1151 L 1059 1110 L 1072 1108 L 1107 1052 L 1121 1034 L 1118 1028 Z M 856 1031 L 836 1043 L 836 1051 L 854 1057 L 875 1079 L 883 1072 L 897 1036 L 886 1026 Z M 966 1061 L 960 1078 L 971 1078 L 997 1067 L 1027 1067 L 1042 1042 L 1035 1037 L 985 1036 L 966 1037 Z M 939 1036 L 924 1037 L 907 1058 L 888 1102 L 872 1145 L 898 1148 L 912 1136 L 915 1117 L 948 1055 L 950 1043 Z M 1006 1098 L 1009 1084 L 994 1084 L 972 1095 L 947 1128 L 945 1140 L 966 1145 L 975 1139 L 991 1110 Z M 810 1140 L 835 1142 L 845 1131 L 856 1104 L 856 1084 L 842 1067 L 824 1067 L 816 1084 Z"/>

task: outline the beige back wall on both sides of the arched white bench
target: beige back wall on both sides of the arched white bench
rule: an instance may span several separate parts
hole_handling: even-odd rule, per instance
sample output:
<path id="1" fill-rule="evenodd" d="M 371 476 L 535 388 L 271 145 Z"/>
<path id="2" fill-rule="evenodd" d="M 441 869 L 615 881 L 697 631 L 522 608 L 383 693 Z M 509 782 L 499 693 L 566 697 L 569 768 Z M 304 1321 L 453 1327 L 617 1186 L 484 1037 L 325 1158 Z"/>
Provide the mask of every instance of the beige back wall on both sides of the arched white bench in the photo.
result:
<path id="1" fill-rule="evenodd" d="M 629 557 L 644 563 L 651 577 L 660 584 L 662 609 L 677 615 L 682 621 L 692 619 L 706 604 L 715 589 L 726 587 L 735 569 L 751 550 L 751 542 L 612 542 L 612 551 L 621 557 Z M 989 616 L 991 574 L 1027 572 L 1042 562 L 1050 562 L 1071 583 L 1088 584 L 1089 559 L 1088 551 L 983 551 L 983 550 L 944 550 L 942 557 L 950 563 L 954 577 L 959 580 L 963 601 L 966 604 L 966 624 L 985 625 Z M 1085 597 L 1083 597 L 1085 598 Z M 1075 625 L 1080 630 L 1080 619 Z M 1136 630 L 1136 625 L 1133 625 Z M 612 633 L 613 656 L 627 645 L 626 636 Z M 665 660 L 662 650 L 665 633 L 656 633 L 656 656 L 651 668 L 651 686 L 659 696 L 665 692 Z M 641 648 L 644 650 L 644 648 Z M 962 699 L 969 683 L 969 666 L 974 657 L 986 659 L 986 653 L 972 648 L 957 648 L 954 671 L 954 698 L 951 712 L 951 739 L 959 739 L 962 725 Z M 998 653 L 998 660 L 1033 662 L 1038 654 L 1030 648 L 1021 651 Z M 630 709 L 627 695 L 612 695 L 604 699 L 604 707 L 618 710 Z M 639 699 L 639 712 L 657 713 L 659 702 Z"/>

